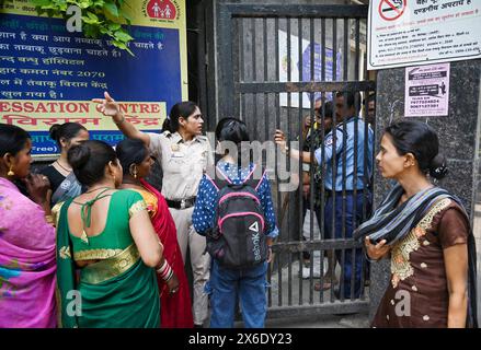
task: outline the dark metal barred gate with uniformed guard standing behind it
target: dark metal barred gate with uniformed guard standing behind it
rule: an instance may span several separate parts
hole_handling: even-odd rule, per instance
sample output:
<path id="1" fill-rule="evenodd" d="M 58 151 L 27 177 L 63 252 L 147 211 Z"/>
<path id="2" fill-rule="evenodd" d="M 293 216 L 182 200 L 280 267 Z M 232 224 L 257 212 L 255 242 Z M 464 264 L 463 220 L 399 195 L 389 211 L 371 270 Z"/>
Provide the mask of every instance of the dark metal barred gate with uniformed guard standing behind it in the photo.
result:
<path id="1" fill-rule="evenodd" d="M 335 98 L 335 92 L 362 92 L 362 117 L 366 118 L 366 96 L 375 91 L 375 82 L 367 80 L 366 70 L 366 31 L 363 33 L 363 28 L 366 27 L 367 12 L 367 5 L 218 4 L 219 118 L 240 117 L 247 122 L 252 139 L 261 142 L 273 140 L 275 129 L 284 129 L 289 140 L 298 138 L 299 149 L 304 147 L 304 118 L 306 115 L 314 115 L 316 100 L 320 98 L 322 103 L 322 108 L 318 109 L 321 115 L 321 143 L 324 142 L 324 105 L 327 101 Z M 360 107 L 360 101 L 356 101 L 356 107 Z M 342 107 L 334 105 L 334 125 L 336 109 Z M 343 124 L 345 122 L 344 119 Z M 355 122 L 357 128 L 357 119 Z M 366 122 L 363 130 L 365 136 L 370 132 L 369 128 Z M 345 143 L 346 138 L 343 140 Z M 364 160 L 373 156 L 367 154 L 366 149 L 365 147 Z M 316 281 L 319 280 L 322 285 L 324 280 L 335 280 L 336 276 L 342 289 L 346 256 L 352 255 L 351 258 L 355 261 L 355 255 L 359 253 L 354 248 L 360 247 L 359 243 L 346 236 L 345 220 L 342 222 L 341 237 L 327 236 L 325 222 L 329 220 L 335 228 L 336 219 L 335 215 L 327 218 L 324 207 L 329 196 L 336 197 L 335 191 L 333 189 L 331 192 L 323 186 L 316 192 L 313 190 L 314 173 L 320 172 L 320 177 L 325 178 L 327 164 L 319 168 L 310 166 L 308 171 L 310 228 L 308 236 L 302 238 L 302 212 L 307 206 L 302 195 L 304 186 L 298 186 L 295 191 L 284 192 L 280 189 L 286 183 L 295 183 L 296 177 L 301 179 L 304 170 L 298 161 L 289 160 L 287 165 L 291 168 L 297 165 L 297 168 L 289 178 L 280 178 L 277 171 L 279 151 L 275 148 L 274 152 L 275 168 L 270 168 L 265 162 L 264 165 L 267 166 L 272 184 L 280 234 L 273 247 L 275 259 L 268 271 L 267 317 L 365 311 L 368 299 L 364 288 L 364 255 L 360 295 L 354 295 L 354 275 L 351 298 L 345 298 L 343 293 L 337 298 L 334 288 L 323 292 L 313 289 Z M 310 152 L 312 156 L 312 148 Z M 342 207 L 345 218 L 346 153 L 342 153 L 332 158 L 331 165 L 336 170 L 336 164 L 344 162 Z M 356 154 L 354 159 L 357 160 Z M 333 176 L 336 176 L 335 171 Z M 354 198 L 368 197 L 371 187 L 370 179 L 365 178 L 362 189 L 354 188 Z M 316 198 L 321 207 L 317 225 L 319 233 L 314 233 L 313 224 L 312 203 Z M 367 203 L 363 202 L 363 219 L 368 214 Z M 325 259 L 327 253 L 331 254 Z M 308 268 L 305 267 L 306 256 L 309 256 Z M 331 269 L 331 276 L 324 278 L 327 266 L 333 266 L 335 260 L 337 272 Z M 308 278 L 302 276 L 306 272 Z"/>

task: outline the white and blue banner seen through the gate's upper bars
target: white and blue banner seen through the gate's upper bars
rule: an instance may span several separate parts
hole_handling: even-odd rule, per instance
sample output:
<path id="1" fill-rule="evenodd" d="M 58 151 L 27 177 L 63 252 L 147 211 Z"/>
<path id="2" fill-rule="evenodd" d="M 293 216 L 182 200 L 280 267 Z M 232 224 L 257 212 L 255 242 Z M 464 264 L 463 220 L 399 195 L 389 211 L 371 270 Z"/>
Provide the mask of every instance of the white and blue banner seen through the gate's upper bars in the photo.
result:
<path id="1" fill-rule="evenodd" d="M 287 33 L 284 31 L 279 31 L 279 81 L 286 82 L 289 81 L 288 78 L 288 52 L 287 52 Z M 302 39 L 302 65 L 300 65 L 299 59 L 299 37 L 296 35 L 290 35 L 290 81 L 311 81 L 311 47 L 309 40 Z M 324 49 L 324 77 L 322 77 L 322 47 L 318 43 L 313 43 L 314 47 L 314 81 L 333 81 L 342 80 L 342 52 L 336 52 L 336 62 L 335 62 L 335 75 L 334 75 L 334 59 L 333 59 L 333 50 L 331 48 Z M 300 67 L 302 66 L 302 67 Z M 300 68 L 302 69 L 302 73 L 299 73 Z M 299 77 L 302 79 L 299 79 Z M 324 78 L 324 79 L 322 79 Z M 331 93 L 327 93 L 325 96 L 330 97 Z M 313 94 L 314 101 L 321 97 L 321 93 Z M 283 107 L 287 107 L 289 105 L 288 95 L 286 93 L 282 93 L 279 95 L 279 104 Z M 299 94 L 291 93 L 290 94 L 290 107 L 299 107 Z M 302 95 L 302 107 L 310 108 L 310 93 L 304 93 Z"/>

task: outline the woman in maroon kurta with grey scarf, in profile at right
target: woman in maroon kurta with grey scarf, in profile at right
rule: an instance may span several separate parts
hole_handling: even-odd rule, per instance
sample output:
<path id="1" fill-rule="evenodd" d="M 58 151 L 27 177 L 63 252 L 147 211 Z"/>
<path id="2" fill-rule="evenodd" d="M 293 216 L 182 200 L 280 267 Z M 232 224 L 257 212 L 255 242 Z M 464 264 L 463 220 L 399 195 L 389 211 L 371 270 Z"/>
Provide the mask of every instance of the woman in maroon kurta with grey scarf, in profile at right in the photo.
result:
<path id="1" fill-rule="evenodd" d="M 476 247 L 461 201 L 431 179 L 447 174 L 436 132 L 421 121 L 389 126 L 376 160 L 398 182 L 356 231 L 369 260 L 391 260 L 374 327 L 477 327 Z"/>

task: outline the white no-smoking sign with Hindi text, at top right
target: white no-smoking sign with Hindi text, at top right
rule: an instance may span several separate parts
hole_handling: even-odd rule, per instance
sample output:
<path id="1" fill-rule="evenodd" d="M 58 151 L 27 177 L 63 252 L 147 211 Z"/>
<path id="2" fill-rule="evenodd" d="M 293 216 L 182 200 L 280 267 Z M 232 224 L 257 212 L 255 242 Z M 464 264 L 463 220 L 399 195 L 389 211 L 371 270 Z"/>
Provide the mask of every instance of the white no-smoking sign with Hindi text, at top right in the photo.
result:
<path id="1" fill-rule="evenodd" d="M 368 69 L 481 58 L 481 0 L 374 0 Z"/>

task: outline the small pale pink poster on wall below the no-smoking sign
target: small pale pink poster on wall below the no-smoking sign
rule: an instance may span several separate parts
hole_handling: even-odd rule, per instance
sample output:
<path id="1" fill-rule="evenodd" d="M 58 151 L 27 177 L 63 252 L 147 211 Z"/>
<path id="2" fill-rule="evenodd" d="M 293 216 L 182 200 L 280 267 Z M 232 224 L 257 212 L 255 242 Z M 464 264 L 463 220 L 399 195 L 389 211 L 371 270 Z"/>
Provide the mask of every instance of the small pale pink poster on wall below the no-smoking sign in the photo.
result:
<path id="1" fill-rule="evenodd" d="M 449 106 L 449 63 L 405 69 L 406 117 L 447 116 Z"/>

